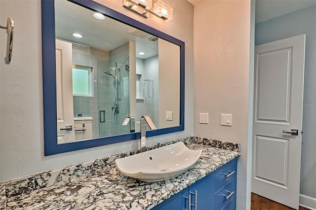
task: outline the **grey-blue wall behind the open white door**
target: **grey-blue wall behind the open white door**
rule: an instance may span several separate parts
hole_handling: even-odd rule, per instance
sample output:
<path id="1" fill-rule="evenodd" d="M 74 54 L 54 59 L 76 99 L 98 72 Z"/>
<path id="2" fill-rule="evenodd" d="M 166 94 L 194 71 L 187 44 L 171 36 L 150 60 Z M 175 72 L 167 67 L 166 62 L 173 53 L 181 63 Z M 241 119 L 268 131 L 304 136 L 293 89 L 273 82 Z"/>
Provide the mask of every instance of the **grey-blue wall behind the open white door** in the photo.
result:
<path id="1" fill-rule="evenodd" d="M 302 24 L 304 23 L 304 24 Z M 301 160 L 303 195 L 316 199 L 316 6 L 301 9 L 256 24 L 255 43 L 263 44 L 282 38 L 306 34 L 305 79 Z M 316 200 L 314 200 L 316 208 Z"/>

